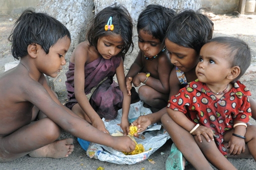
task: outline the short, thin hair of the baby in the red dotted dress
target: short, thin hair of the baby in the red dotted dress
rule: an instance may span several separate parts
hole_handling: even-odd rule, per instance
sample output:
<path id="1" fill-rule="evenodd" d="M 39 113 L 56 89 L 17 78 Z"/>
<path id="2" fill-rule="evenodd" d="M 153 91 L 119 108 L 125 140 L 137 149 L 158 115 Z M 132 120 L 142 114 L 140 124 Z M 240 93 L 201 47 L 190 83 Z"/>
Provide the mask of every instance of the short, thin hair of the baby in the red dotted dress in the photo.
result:
<path id="1" fill-rule="evenodd" d="M 217 44 L 223 45 L 224 48 L 230 51 L 228 57 L 231 61 L 231 67 L 240 67 L 240 74 L 232 81 L 234 83 L 245 73 L 247 68 L 250 66 L 251 54 L 248 44 L 246 44 L 241 39 L 227 36 L 215 37 L 209 40 L 208 43 L 209 42 L 215 42 Z"/>

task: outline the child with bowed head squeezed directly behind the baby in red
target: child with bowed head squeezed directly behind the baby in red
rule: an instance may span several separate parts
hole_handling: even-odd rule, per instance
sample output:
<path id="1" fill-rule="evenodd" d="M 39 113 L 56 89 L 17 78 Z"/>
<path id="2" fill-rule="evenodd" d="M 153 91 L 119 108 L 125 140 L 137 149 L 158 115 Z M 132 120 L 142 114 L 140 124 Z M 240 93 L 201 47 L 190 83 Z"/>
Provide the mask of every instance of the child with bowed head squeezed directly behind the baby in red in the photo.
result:
<path id="1" fill-rule="evenodd" d="M 165 46 L 171 63 L 175 65 L 169 75 L 169 96 L 176 94 L 182 84 L 196 79 L 195 66 L 200 48 L 211 39 L 212 33 L 211 20 L 197 11 L 183 10 L 173 17 L 165 35 Z M 140 128 L 138 132 L 142 132 L 149 125 L 160 122 L 165 113 L 166 106 L 158 112 L 138 117 L 133 124 Z"/>

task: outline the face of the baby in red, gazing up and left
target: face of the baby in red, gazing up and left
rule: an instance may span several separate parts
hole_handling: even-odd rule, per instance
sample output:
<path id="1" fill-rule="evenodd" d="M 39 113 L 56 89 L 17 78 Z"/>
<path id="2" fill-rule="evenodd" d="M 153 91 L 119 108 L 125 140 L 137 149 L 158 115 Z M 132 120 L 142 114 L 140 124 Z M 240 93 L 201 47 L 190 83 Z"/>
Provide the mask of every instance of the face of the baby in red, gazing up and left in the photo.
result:
<path id="1" fill-rule="evenodd" d="M 215 42 L 202 46 L 196 76 L 203 83 L 223 82 L 231 71 L 230 50 Z"/>

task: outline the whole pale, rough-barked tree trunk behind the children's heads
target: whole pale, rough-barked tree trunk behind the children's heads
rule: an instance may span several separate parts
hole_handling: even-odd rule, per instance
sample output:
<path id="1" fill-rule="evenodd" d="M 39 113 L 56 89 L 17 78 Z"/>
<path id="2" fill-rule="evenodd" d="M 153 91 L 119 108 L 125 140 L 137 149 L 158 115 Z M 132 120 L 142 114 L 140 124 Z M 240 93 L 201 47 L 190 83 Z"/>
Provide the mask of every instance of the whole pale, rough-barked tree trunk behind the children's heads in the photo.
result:
<path id="1" fill-rule="evenodd" d="M 66 59 L 70 57 L 73 48 L 85 40 L 85 31 L 88 23 L 95 13 L 113 3 L 124 4 L 128 9 L 133 21 L 133 43 L 132 53 L 125 56 L 124 65 L 127 68 L 133 63 L 138 53 L 137 46 L 137 18 L 139 13 L 149 4 L 160 4 L 179 11 L 182 9 L 197 10 L 201 7 L 200 0 L 40 0 L 37 11 L 42 11 L 62 22 L 71 33 L 71 45 L 66 54 Z M 95 6 L 95 7 L 94 7 Z"/>

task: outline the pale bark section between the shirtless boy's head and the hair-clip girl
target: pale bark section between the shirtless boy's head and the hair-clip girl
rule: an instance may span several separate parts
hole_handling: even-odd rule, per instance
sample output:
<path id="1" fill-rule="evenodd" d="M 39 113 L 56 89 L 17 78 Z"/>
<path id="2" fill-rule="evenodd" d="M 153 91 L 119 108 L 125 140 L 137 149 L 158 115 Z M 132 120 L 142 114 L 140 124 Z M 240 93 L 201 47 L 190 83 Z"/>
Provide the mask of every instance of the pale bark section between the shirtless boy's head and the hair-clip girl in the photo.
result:
<path id="1" fill-rule="evenodd" d="M 87 23 L 94 16 L 93 0 L 40 0 L 37 12 L 45 12 L 63 23 L 71 34 L 66 60 L 74 47 L 85 40 Z"/>

